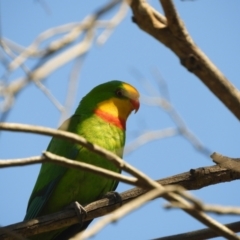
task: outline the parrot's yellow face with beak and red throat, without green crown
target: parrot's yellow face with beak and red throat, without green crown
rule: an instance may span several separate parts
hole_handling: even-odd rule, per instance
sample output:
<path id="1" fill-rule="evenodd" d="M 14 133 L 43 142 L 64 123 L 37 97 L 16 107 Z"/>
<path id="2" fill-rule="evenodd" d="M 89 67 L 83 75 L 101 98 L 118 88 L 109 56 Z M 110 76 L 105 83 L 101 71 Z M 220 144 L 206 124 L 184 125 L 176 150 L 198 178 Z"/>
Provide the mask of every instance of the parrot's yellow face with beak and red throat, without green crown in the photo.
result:
<path id="1" fill-rule="evenodd" d="M 133 86 L 123 83 L 121 88 L 116 89 L 113 97 L 97 104 L 95 113 L 118 127 L 122 125 L 121 128 L 125 128 L 129 114 L 133 110 L 137 112 L 139 106 L 138 91 Z"/>

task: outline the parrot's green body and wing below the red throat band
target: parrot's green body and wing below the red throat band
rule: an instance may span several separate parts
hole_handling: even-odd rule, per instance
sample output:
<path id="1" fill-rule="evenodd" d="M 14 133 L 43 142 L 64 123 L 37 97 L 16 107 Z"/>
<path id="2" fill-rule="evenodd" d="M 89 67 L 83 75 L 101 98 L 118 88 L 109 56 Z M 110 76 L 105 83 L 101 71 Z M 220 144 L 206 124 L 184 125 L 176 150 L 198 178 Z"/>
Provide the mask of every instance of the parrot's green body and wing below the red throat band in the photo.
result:
<path id="1" fill-rule="evenodd" d="M 88 135 L 89 141 L 105 148 L 108 146 L 109 150 L 115 150 L 115 153 L 122 155 L 125 141 L 124 132 L 109 125 L 104 126 L 105 123 L 101 119 L 95 118 L 95 116 L 88 120 L 83 118 L 82 121 L 80 116 L 74 115 L 65 121 L 60 129 L 77 132 L 82 136 Z M 101 130 L 100 132 L 99 129 Z M 90 131 L 93 132 L 90 133 Z M 104 132 L 108 135 L 114 135 L 114 137 L 102 139 Z M 118 142 L 117 148 L 116 142 Z M 47 151 L 119 172 L 119 169 L 112 163 L 67 140 L 53 138 Z M 53 163 L 44 163 L 30 197 L 25 220 L 60 211 L 64 206 L 76 200 L 81 204 L 87 204 L 100 198 L 108 191 L 115 190 L 116 187 L 116 181 L 96 174 L 69 169 Z"/>

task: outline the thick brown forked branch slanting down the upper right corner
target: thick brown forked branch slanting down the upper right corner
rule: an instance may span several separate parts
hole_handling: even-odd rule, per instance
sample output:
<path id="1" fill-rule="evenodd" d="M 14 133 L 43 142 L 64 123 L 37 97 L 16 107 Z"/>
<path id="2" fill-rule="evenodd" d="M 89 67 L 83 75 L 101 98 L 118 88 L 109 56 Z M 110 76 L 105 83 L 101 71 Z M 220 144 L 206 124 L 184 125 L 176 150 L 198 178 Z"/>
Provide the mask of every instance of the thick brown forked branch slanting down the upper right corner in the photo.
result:
<path id="1" fill-rule="evenodd" d="M 144 0 L 132 0 L 133 21 L 143 31 L 170 48 L 181 64 L 195 74 L 240 120 L 240 94 L 211 60 L 198 48 L 179 18 L 171 0 L 160 1 L 162 16 Z M 167 20 L 166 20 L 167 19 Z"/>

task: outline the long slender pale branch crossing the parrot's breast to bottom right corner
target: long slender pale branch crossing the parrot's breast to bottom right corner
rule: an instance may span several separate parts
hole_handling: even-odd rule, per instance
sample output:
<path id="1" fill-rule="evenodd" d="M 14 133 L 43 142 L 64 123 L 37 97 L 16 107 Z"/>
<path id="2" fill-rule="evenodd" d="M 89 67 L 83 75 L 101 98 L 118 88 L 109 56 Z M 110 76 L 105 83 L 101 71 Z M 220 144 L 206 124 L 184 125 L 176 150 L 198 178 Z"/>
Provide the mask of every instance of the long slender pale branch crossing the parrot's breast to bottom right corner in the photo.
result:
<path id="1" fill-rule="evenodd" d="M 151 178 L 149 178 L 146 174 L 142 173 L 141 171 L 137 170 L 136 168 L 132 167 L 130 164 L 124 162 L 121 158 L 117 157 L 113 153 L 97 146 L 94 144 L 91 144 L 87 142 L 84 138 L 72 134 L 65 131 L 60 130 L 53 130 L 50 128 L 41 128 L 36 126 L 29 126 L 24 124 L 7 124 L 7 123 L 0 123 L 0 129 L 5 130 L 11 130 L 11 131 L 25 131 L 25 132 L 35 132 L 40 133 L 44 135 L 53 135 L 60 138 L 65 138 L 68 140 L 74 140 L 81 144 L 82 146 L 86 147 L 90 151 L 94 151 L 98 153 L 99 155 L 104 156 L 106 159 L 112 161 L 116 166 L 119 168 L 125 170 L 126 172 L 132 174 L 133 176 L 138 178 L 138 181 L 142 184 L 142 186 L 145 186 L 148 189 L 156 188 L 156 189 L 163 189 L 163 186 L 159 183 L 153 181 Z M 180 197 L 179 195 L 175 193 L 168 193 L 164 196 L 164 198 L 170 202 L 179 202 L 183 204 L 185 207 L 190 206 L 189 202 L 187 202 L 185 199 Z M 203 213 L 200 210 L 184 210 L 186 213 L 190 214 L 194 218 L 198 219 L 200 222 L 204 223 L 208 227 L 212 228 L 214 231 L 218 232 L 220 235 L 227 237 L 228 239 L 239 239 L 234 232 L 224 227 L 222 224 L 217 222 L 216 220 L 213 220 L 209 216 L 207 216 L 205 213 Z"/>

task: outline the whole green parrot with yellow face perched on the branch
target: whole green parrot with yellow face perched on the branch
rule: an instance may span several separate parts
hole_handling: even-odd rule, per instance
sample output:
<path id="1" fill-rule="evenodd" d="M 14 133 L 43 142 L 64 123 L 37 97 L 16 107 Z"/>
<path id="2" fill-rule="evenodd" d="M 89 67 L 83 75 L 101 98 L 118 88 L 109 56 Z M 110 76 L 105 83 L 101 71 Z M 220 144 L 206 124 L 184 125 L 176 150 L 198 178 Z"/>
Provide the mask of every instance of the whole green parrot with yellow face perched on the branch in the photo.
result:
<path id="1" fill-rule="evenodd" d="M 138 111 L 139 106 L 139 93 L 133 86 L 117 80 L 106 82 L 83 97 L 74 115 L 59 129 L 83 136 L 122 157 L 126 120 L 133 110 Z M 64 139 L 53 137 L 47 151 L 114 172 L 121 171 L 105 158 Z M 24 220 L 61 211 L 75 201 L 84 206 L 114 191 L 117 185 L 117 181 L 94 173 L 43 163 Z M 90 222 L 42 233 L 31 239 L 69 239 Z"/>

